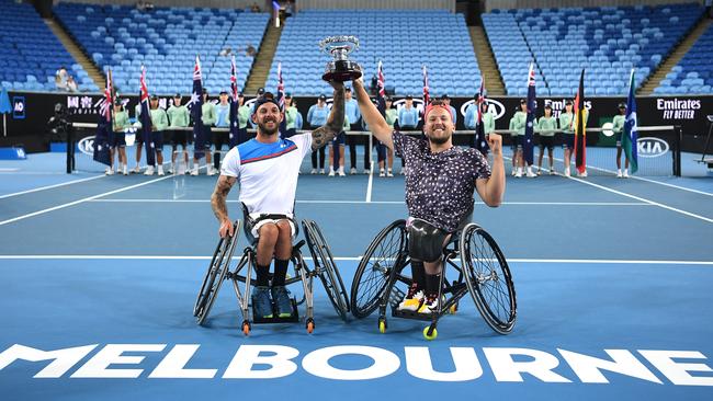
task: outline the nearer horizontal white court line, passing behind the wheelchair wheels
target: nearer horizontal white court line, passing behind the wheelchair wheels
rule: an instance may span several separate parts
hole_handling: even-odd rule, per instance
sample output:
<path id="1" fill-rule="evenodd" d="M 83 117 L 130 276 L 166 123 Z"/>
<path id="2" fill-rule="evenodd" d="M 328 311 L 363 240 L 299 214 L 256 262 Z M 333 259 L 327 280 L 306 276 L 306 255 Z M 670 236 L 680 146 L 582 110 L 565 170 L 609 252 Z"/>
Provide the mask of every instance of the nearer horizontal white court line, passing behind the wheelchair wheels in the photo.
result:
<path id="1" fill-rule="evenodd" d="M 212 256 L 172 255 L 0 255 L 0 260 L 146 260 L 146 261 L 205 261 Z M 305 257 L 310 261 L 312 257 Z M 335 261 L 361 261 L 361 256 L 335 257 Z M 553 263 L 553 264 L 655 264 L 655 265 L 702 265 L 713 266 L 713 261 L 665 261 L 625 259 L 508 259 L 508 263 Z"/>

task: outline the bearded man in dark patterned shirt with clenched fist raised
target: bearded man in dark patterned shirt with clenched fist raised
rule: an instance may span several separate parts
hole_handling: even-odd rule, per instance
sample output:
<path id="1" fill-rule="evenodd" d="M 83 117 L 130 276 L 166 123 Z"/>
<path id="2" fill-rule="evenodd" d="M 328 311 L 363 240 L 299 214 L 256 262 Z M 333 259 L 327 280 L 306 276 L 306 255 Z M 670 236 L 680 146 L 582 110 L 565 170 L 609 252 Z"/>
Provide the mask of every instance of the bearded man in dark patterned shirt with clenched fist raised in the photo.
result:
<path id="1" fill-rule="evenodd" d="M 469 221 L 475 202 L 473 192 L 477 191 L 490 207 L 500 205 L 505 193 L 502 138 L 495 133 L 488 137 L 491 171 L 487 159 L 476 149 L 453 146 L 453 116 L 441 102 L 433 102 L 423 113 L 426 139 L 411 138 L 386 124 L 361 80 L 354 81 L 353 88 L 371 131 L 409 167 L 406 206 L 414 283 L 398 308 L 431 313 L 441 301 L 438 287 L 443 245 Z"/>

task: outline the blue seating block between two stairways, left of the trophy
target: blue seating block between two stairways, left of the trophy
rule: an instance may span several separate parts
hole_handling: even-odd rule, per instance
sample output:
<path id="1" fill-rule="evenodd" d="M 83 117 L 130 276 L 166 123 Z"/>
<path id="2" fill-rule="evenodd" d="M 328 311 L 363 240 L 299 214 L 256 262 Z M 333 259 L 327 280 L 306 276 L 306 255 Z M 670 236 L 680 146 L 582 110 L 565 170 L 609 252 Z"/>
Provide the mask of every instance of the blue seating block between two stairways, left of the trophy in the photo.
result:
<path id="1" fill-rule="evenodd" d="M 55 14 L 86 53 L 104 71 L 112 69 L 115 87 L 139 90 L 140 66 L 146 66 L 150 93 L 189 93 L 195 56 L 201 56 L 203 83 L 212 94 L 230 84 L 230 57 L 222 50 L 259 49 L 268 13 L 235 9 L 155 8 L 60 3 Z M 238 85 L 245 87 L 252 57 L 237 51 Z"/>

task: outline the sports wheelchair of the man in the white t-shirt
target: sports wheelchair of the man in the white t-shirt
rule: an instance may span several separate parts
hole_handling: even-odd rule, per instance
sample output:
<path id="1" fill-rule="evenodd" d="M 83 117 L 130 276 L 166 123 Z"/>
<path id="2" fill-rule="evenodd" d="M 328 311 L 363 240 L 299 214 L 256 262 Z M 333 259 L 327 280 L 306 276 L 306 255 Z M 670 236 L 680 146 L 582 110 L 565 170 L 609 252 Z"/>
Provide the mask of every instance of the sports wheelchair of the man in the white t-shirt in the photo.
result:
<path id="1" fill-rule="evenodd" d="M 248 218 L 246 213 L 246 219 Z M 309 253 L 312 254 L 314 262 L 314 270 L 310 270 L 305 263 L 304 257 L 302 256 L 301 248 L 305 244 L 305 240 L 301 240 L 292 248 L 292 255 L 290 257 L 291 265 L 294 267 L 294 276 L 288 276 L 285 279 L 285 286 L 291 284 L 302 282 L 303 296 L 301 300 L 297 300 L 295 297 L 291 299 L 292 301 L 292 316 L 290 318 L 279 318 L 276 314 L 273 318 L 261 318 L 254 317 L 251 319 L 252 302 L 250 297 L 251 286 L 254 285 L 252 279 L 253 268 L 256 267 L 257 260 L 257 239 L 252 237 L 249 232 L 247 225 L 245 225 L 245 234 L 250 245 L 246 247 L 242 251 L 242 256 L 236 265 L 235 270 L 230 271 L 230 263 L 233 261 L 233 254 L 235 252 L 236 245 L 238 243 L 238 232 L 240 229 L 240 220 L 234 222 L 234 236 L 220 238 L 215 252 L 213 253 L 213 259 L 208 265 L 208 271 L 205 274 L 203 284 L 201 285 L 201 290 L 199 291 L 197 299 L 195 301 L 195 307 L 193 308 L 193 316 L 196 318 L 196 321 L 200 325 L 203 325 L 211 312 L 211 308 L 215 302 L 215 299 L 218 296 L 220 290 L 220 285 L 224 280 L 229 279 L 233 282 L 233 287 L 235 295 L 238 298 L 238 307 L 242 313 L 242 324 L 241 330 L 245 335 L 250 334 L 252 329 L 252 323 L 283 323 L 283 322 L 298 322 L 299 314 L 297 306 L 306 303 L 306 318 L 305 318 L 305 328 L 308 333 L 312 333 L 315 330 L 315 319 L 314 319 L 314 293 L 313 293 L 313 282 L 315 277 L 319 277 L 331 305 L 335 307 L 337 314 L 342 320 L 347 320 L 349 313 L 349 298 L 347 296 L 347 289 L 344 284 L 339 275 L 339 271 L 335 264 L 335 259 L 331 254 L 331 250 L 327 245 L 327 241 L 321 233 L 321 230 L 313 220 L 303 220 L 302 227 L 305 232 L 305 240 L 307 247 L 309 248 Z M 297 225 L 295 228 L 298 229 Z M 272 276 L 270 276 L 272 279 Z M 240 290 L 239 283 L 244 283 L 245 287 Z"/>

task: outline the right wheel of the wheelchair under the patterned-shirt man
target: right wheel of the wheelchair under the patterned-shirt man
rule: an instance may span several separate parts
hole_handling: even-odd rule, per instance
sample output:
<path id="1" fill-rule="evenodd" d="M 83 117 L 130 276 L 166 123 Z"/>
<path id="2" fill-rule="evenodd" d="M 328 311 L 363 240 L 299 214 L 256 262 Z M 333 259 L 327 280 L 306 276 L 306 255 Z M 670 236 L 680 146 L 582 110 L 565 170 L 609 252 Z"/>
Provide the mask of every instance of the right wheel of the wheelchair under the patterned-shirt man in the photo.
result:
<path id="1" fill-rule="evenodd" d="M 461 232 L 465 284 L 485 322 L 497 333 L 512 331 L 517 316 L 514 284 L 508 262 L 493 237 L 476 224 Z"/>

